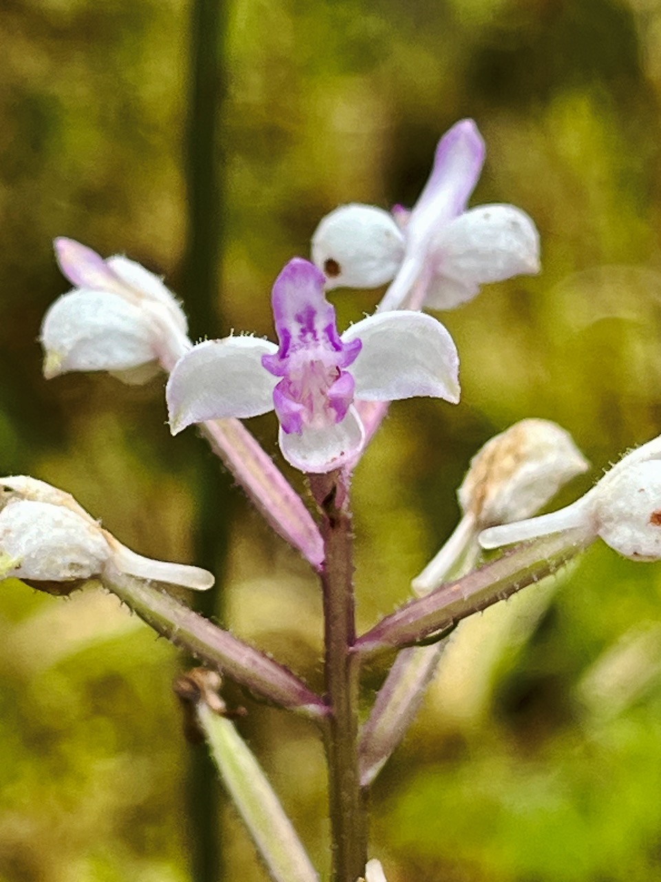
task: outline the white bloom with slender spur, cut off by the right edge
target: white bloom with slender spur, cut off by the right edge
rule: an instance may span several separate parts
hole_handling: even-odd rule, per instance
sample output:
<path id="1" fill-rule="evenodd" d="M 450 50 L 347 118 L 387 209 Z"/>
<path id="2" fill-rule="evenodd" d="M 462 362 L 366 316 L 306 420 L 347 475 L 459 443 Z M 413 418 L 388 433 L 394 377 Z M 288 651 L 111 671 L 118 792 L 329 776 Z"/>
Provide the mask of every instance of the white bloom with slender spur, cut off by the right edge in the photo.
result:
<path id="1" fill-rule="evenodd" d="M 489 527 L 483 548 L 583 528 L 623 557 L 661 558 L 661 436 L 629 452 L 583 497 L 557 512 Z"/>

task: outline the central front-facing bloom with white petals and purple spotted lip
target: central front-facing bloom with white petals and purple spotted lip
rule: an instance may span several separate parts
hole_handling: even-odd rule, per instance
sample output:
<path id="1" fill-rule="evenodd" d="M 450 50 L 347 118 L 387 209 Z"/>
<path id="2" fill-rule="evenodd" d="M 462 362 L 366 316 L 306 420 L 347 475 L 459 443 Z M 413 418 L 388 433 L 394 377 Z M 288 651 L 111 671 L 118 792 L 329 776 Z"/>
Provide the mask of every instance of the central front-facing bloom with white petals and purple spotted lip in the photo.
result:
<path id="1" fill-rule="evenodd" d="M 183 355 L 167 383 L 173 434 L 193 422 L 275 409 L 286 460 L 301 471 L 329 472 L 363 445 L 354 400 L 458 400 L 457 348 L 440 322 L 381 313 L 340 336 L 323 286 L 316 266 L 293 258 L 273 286 L 279 346 L 228 337 Z"/>

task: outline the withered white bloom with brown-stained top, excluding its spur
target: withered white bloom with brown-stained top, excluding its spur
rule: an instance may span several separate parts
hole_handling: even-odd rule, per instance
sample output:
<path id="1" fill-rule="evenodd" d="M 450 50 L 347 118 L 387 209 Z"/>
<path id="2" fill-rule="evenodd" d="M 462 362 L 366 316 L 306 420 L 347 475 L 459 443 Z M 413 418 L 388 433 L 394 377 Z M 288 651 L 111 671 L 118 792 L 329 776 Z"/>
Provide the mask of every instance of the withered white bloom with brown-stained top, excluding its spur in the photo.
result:
<path id="1" fill-rule="evenodd" d="M 548 420 L 522 420 L 472 458 L 459 505 L 479 527 L 528 518 L 587 468 L 568 431 Z"/>

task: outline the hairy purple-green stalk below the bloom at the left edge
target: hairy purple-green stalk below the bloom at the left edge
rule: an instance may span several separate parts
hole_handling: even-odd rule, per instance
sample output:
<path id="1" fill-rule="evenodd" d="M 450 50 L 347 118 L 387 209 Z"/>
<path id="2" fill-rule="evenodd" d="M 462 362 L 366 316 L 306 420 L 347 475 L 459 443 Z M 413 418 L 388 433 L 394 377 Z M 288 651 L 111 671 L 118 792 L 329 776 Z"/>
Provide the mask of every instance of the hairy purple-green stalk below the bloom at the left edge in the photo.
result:
<path id="1" fill-rule="evenodd" d="M 119 572 L 112 563 L 106 565 L 101 581 L 154 631 L 250 691 L 315 719 L 328 713 L 323 700 L 290 670 L 212 624 L 156 584 Z"/>

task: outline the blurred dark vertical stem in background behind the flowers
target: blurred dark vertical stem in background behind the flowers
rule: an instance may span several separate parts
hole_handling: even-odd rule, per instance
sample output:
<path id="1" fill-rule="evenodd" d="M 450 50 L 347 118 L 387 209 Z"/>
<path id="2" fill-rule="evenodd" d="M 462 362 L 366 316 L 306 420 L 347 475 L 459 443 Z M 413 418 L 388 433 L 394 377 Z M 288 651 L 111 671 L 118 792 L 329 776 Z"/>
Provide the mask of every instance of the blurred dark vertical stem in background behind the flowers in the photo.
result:
<path id="1" fill-rule="evenodd" d="M 219 178 L 219 119 L 225 84 L 222 46 L 225 7 L 220 0 L 191 0 L 189 119 L 186 138 L 188 241 L 183 294 L 192 339 L 220 336 L 222 189 Z M 198 443 L 199 444 L 199 443 Z M 202 594 L 197 609 L 222 619 L 222 588 L 229 545 L 231 488 L 218 460 L 199 444 L 195 561 L 216 575 L 216 587 Z M 192 748 L 189 767 L 189 843 L 194 882 L 219 882 L 220 791 L 212 760 Z"/>

